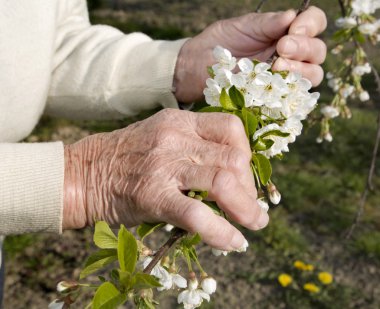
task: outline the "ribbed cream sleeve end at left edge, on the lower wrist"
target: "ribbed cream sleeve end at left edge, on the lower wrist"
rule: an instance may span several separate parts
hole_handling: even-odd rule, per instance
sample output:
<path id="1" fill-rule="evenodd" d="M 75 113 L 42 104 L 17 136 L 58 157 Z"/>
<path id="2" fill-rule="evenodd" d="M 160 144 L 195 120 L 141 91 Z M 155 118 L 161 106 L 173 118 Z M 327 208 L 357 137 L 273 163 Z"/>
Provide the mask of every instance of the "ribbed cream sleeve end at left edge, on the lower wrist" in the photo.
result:
<path id="1" fill-rule="evenodd" d="M 0 144 L 0 234 L 62 232 L 61 142 Z"/>

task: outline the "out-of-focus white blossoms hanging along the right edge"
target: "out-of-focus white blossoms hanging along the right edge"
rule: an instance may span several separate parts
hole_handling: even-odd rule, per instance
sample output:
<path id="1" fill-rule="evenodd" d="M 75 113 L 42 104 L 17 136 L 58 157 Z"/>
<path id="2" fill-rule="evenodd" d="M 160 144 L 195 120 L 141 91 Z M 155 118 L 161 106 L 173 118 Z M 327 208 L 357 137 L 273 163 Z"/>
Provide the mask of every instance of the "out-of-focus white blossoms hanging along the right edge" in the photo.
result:
<path id="1" fill-rule="evenodd" d="M 335 33 L 337 45 L 331 50 L 333 55 L 343 55 L 342 64 L 335 72 L 328 72 L 326 78 L 328 86 L 335 93 L 330 105 L 321 108 L 321 133 L 317 142 L 331 142 L 330 120 L 342 116 L 351 118 L 351 111 L 347 107 L 349 99 L 358 99 L 366 102 L 370 99 L 361 83 L 362 77 L 372 71 L 367 55 L 360 44 L 364 41 L 373 45 L 380 41 L 380 19 L 375 12 L 380 8 L 380 0 L 352 0 L 348 2 L 344 14 L 335 22 L 339 30 Z M 344 52 L 348 44 L 354 43 L 354 53 Z M 351 48 L 351 46 L 349 47 Z"/>

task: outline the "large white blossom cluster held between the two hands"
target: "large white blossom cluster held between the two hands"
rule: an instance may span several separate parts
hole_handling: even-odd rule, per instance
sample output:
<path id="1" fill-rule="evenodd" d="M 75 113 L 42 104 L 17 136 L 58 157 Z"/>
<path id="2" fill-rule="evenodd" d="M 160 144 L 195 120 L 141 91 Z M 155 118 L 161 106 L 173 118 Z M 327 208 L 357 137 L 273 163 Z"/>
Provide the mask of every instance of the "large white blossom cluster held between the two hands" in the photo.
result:
<path id="1" fill-rule="evenodd" d="M 301 134 L 302 121 L 319 98 L 318 92 L 309 92 L 311 82 L 299 73 L 273 72 L 267 63 L 248 58 L 237 61 L 229 50 L 220 46 L 214 49 L 214 57 L 217 64 L 212 66 L 214 77 L 206 81 L 206 102 L 221 106 L 222 89 L 228 93 L 235 86 L 244 96 L 245 107 L 257 110 L 260 117 L 252 142 L 259 138 L 273 141 L 270 148 L 258 153 L 271 158 L 288 152 L 288 144 Z"/>

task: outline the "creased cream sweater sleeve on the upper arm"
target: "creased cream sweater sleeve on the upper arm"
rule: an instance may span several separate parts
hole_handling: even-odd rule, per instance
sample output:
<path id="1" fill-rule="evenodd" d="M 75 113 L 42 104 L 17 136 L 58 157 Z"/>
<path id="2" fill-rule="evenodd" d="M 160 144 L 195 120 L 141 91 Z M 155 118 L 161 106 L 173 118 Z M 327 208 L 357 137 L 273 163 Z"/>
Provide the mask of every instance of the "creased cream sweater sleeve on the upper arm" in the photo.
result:
<path id="1" fill-rule="evenodd" d="M 85 0 L 59 3 L 48 114 L 106 119 L 159 106 L 178 108 L 172 82 L 185 40 L 125 35 L 91 25 Z"/>

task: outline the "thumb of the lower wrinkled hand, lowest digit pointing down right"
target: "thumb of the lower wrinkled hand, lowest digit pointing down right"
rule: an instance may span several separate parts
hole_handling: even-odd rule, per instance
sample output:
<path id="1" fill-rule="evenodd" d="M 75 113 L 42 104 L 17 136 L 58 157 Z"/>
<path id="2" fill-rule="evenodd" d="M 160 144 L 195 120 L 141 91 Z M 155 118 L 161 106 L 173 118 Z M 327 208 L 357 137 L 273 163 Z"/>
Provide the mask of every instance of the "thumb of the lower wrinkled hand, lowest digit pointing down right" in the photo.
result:
<path id="1" fill-rule="evenodd" d="M 178 193 L 175 207 L 168 209 L 166 222 L 190 233 L 199 233 L 213 248 L 231 251 L 243 246 L 245 238 L 242 233 L 202 202 Z"/>

